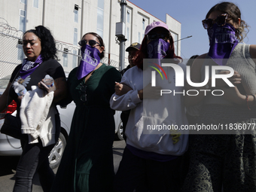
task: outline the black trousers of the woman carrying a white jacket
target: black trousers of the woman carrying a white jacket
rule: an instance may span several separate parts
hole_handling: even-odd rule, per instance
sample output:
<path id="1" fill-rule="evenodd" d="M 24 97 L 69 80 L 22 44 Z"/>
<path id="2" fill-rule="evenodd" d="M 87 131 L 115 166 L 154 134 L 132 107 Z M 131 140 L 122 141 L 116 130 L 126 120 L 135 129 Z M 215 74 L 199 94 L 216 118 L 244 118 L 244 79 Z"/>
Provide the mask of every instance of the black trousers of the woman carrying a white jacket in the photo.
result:
<path id="1" fill-rule="evenodd" d="M 57 142 L 60 133 L 59 114 L 55 115 L 55 122 L 55 141 Z M 38 143 L 29 144 L 28 141 L 21 141 L 21 145 L 23 147 L 23 153 L 21 154 L 20 161 L 17 165 L 14 192 L 32 191 L 32 179 L 35 172 L 38 172 L 43 190 L 50 191 L 55 174 L 53 170 L 50 169 L 48 155 L 55 144 L 43 147 L 41 140 L 38 139 Z"/>

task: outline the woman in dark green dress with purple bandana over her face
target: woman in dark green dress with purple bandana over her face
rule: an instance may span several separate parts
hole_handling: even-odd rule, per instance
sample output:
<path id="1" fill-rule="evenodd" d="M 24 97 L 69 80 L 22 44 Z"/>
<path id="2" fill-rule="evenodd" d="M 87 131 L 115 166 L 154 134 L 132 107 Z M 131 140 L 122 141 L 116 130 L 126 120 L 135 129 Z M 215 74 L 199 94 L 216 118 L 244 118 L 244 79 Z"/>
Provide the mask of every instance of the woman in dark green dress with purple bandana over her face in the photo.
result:
<path id="1" fill-rule="evenodd" d="M 66 101 L 76 108 L 52 191 L 112 191 L 115 127 L 109 99 L 121 75 L 100 61 L 105 45 L 98 34 L 88 32 L 79 44 L 81 62 L 69 74 Z"/>

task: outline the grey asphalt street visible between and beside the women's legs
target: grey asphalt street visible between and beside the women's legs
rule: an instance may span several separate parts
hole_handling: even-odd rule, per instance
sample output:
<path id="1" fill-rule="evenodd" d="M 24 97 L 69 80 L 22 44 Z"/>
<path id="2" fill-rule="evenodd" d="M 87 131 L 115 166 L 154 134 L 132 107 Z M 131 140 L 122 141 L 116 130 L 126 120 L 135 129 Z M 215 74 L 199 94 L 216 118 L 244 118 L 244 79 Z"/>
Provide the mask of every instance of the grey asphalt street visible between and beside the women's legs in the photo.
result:
<path id="1" fill-rule="evenodd" d="M 122 159 L 123 149 L 125 148 L 124 141 L 115 141 L 113 145 L 114 156 L 114 172 L 117 172 L 120 160 Z M 19 157 L 0 157 L 0 191 L 10 192 L 14 187 L 14 174 L 16 170 Z M 57 168 L 53 169 L 56 173 Z M 43 192 L 38 179 L 38 175 L 35 175 L 33 180 L 32 192 Z"/>

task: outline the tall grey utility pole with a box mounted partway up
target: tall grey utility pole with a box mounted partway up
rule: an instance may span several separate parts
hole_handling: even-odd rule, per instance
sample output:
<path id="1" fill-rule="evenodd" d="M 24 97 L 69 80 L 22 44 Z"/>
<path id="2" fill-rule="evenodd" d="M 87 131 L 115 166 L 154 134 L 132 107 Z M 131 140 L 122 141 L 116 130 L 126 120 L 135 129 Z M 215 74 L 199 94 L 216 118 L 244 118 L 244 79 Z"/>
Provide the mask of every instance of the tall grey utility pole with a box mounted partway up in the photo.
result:
<path id="1" fill-rule="evenodd" d="M 126 32 L 126 0 L 121 0 L 121 20 L 120 23 L 116 23 L 116 36 L 117 40 L 120 42 L 120 51 L 119 51 L 119 69 L 124 69 L 124 58 L 125 58 L 125 32 Z M 118 31 L 118 32 L 117 32 Z"/>

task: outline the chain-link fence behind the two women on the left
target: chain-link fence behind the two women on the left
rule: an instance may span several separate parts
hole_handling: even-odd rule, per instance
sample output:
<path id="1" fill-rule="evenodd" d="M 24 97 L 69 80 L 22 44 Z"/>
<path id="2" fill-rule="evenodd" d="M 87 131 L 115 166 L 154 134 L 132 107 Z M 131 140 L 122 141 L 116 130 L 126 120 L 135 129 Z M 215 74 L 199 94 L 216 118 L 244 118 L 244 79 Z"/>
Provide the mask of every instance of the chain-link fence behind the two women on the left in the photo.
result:
<path id="1" fill-rule="evenodd" d="M 8 25 L 8 22 L 0 17 L 0 78 L 11 75 L 15 67 L 23 62 L 25 55 L 22 46 L 23 32 Z M 80 62 L 79 47 L 56 41 L 59 63 L 66 72 L 70 72 Z M 119 62 L 104 57 L 102 62 L 118 69 Z M 69 66 L 69 67 L 68 67 Z"/>

